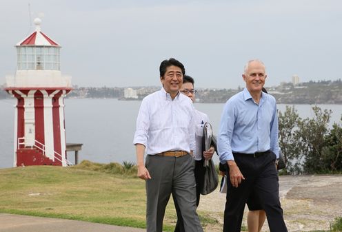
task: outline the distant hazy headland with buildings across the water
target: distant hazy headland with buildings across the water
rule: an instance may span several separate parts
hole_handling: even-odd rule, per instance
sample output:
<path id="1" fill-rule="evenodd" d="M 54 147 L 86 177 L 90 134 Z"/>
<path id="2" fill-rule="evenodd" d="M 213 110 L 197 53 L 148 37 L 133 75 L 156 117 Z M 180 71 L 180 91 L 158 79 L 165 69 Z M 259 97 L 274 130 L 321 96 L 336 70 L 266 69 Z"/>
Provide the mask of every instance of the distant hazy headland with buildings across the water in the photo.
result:
<path id="1" fill-rule="evenodd" d="M 1 89 L 5 86 L 1 85 Z M 118 98 L 119 100 L 141 100 L 148 94 L 160 89 L 160 86 L 148 87 L 78 87 L 68 98 Z M 265 86 L 269 94 L 279 104 L 342 104 L 342 81 L 310 81 L 306 83 L 281 83 L 279 86 Z M 225 103 L 231 96 L 240 92 L 237 89 L 199 88 L 196 94 L 197 103 Z M 10 98 L 4 90 L 0 91 L 0 99 Z"/>

